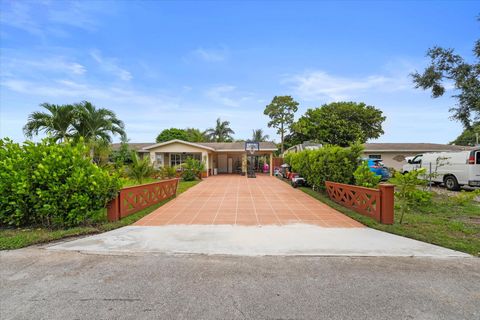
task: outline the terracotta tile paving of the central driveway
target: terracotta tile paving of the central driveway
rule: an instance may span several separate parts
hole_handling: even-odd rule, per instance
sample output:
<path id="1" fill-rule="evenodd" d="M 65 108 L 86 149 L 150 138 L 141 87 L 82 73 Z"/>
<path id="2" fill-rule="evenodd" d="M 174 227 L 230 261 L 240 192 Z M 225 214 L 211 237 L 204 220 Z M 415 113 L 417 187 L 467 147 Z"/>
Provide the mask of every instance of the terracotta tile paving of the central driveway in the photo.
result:
<path id="1" fill-rule="evenodd" d="M 359 222 L 277 178 L 218 175 L 179 195 L 137 221 L 137 226 L 172 224 L 285 225 L 359 228 Z"/>

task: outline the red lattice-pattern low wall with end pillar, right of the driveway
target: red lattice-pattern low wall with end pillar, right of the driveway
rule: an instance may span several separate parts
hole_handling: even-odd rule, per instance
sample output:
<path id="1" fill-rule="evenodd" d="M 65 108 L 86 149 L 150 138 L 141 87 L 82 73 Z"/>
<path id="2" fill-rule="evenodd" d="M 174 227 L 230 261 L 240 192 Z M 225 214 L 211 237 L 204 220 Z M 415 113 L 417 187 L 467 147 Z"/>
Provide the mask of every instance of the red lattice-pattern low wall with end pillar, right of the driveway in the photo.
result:
<path id="1" fill-rule="evenodd" d="M 371 189 L 326 181 L 325 186 L 333 201 L 383 224 L 393 224 L 394 185 L 379 184 L 378 189 Z"/>

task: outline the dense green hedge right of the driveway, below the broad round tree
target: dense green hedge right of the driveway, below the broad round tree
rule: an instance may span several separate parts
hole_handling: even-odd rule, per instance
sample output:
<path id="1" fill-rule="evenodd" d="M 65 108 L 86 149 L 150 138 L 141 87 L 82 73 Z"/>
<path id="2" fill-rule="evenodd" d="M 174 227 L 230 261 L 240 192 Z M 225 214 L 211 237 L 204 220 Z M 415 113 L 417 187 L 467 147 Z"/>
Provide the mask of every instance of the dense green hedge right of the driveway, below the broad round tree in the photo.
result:
<path id="1" fill-rule="evenodd" d="M 307 183 L 324 189 L 325 181 L 353 183 L 353 173 L 360 164 L 363 147 L 354 144 L 348 148 L 324 146 L 317 150 L 305 150 L 285 155 L 285 162 L 292 171 L 299 173 Z"/>

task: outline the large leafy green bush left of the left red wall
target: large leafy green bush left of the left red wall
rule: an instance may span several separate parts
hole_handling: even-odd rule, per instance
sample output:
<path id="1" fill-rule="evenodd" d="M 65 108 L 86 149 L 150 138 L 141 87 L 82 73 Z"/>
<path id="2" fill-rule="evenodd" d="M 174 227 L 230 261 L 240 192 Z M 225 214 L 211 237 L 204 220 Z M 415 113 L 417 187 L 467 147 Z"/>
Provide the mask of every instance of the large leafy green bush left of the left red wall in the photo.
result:
<path id="1" fill-rule="evenodd" d="M 119 188 L 82 143 L 0 139 L 0 224 L 71 227 L 96 220 Z"/>

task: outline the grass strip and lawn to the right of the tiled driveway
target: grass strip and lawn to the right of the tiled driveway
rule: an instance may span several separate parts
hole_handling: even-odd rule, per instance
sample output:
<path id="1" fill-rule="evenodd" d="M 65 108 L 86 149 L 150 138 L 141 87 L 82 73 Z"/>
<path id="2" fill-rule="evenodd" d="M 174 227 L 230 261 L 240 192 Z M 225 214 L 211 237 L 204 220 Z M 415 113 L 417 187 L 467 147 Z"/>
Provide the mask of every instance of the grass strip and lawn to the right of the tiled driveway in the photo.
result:
<path id="1" fill-rule="evenodd" d="M 405 213 L 399 224 L 395 212 L 395 224 L 384 225 L 330 200 L 326 193 L 310 188 L 299 188 L 362 224 L 400 236 L 429 242 L 442 247 L 480 256 L 480 203 L 471 201 L 464 205 L 447 201 L 447 196 L 435 195 L 429 205 Z"/>

